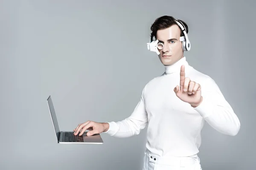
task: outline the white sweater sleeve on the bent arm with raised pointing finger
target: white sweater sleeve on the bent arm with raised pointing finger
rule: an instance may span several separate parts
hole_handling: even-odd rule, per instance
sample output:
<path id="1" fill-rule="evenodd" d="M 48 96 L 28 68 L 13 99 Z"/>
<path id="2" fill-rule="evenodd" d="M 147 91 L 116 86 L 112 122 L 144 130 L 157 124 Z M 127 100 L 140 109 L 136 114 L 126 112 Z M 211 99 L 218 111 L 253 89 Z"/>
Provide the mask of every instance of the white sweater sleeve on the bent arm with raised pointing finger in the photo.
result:
<path id="1" fill-rule="evenodd" d="M 209 78 L 202 87 L 202 96 L 203 101 L 194 109 L 218 132 L 236 136 L 240 121 L 213 79 Z"/>

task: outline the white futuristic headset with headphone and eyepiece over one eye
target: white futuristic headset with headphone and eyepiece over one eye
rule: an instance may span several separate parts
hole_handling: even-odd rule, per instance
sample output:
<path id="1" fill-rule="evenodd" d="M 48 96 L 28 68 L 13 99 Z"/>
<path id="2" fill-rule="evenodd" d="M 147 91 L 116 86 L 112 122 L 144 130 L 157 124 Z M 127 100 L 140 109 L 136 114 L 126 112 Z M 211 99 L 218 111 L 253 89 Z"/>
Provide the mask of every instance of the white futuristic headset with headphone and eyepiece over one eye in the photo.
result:
<path id="1" fill-rule="evenodd" d="M 180 42 L 182 42 L 182 49 L 183 51 L 189 51 L 191 48 L 191 45 L 190 45 L 189 37 L 186 34 L 186 27 L 183 25 L 183 23 L 180 20 L 175 19 L 175 22 L 184 33 L 184 36 L 180 37 Z M 159 42 L 158 40 L 153 40 L 153 36 L 150 36 L 150 42 L 147 43 L 147 47 L 148 47 L 148 50 L 154 51 L 157 53 L 157 55 L 159 55 L 160 52 L 158 51 L 158 49 L 160 50 L 163 49 L 163 43 Z"/>

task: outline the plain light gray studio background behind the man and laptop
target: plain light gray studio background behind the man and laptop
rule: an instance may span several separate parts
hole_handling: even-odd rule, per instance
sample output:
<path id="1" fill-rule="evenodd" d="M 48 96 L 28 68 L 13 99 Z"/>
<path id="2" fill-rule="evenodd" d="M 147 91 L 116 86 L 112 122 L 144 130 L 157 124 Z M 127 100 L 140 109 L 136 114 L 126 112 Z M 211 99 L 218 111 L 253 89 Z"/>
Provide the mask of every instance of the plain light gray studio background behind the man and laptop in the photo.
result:
<path id="1" fill-rule="evenodd" d="M 144 85 L 164 71 L 146 48 L 150 26 L 162 15 L 188 24 L 189 64 L 215 80 L 241 122 L 237 136 L 205 125 L 203 169 L 254 169 L 255 6 L 253 0 L 1 0 L 0 169 L 142 169 L 146 129 L 124 139 L 102 134 L 102 145 L 57 144 L 46 99 L 52 95 L 61 130 L 130 116 Z"/>

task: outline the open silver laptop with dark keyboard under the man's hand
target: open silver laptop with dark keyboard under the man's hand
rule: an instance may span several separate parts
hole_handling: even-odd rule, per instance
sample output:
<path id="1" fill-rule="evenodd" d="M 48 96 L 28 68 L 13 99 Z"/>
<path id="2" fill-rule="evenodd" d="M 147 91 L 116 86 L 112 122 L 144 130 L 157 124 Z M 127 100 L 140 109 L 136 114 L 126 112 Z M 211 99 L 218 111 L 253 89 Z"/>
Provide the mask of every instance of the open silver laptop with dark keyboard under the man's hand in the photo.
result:
<path id="1" fill-rule="evenodd" d="M 51 96 L 48 97 L 47 103 L 52 117 L 52 123 L 55 129 L 57 142 L 59 144 L 103 144 L 103 140 L 100 134 L 87 136 L 87 132 L 84 132 L 81 136 L 75 136 L 73 131 L 60 131 Z"/>

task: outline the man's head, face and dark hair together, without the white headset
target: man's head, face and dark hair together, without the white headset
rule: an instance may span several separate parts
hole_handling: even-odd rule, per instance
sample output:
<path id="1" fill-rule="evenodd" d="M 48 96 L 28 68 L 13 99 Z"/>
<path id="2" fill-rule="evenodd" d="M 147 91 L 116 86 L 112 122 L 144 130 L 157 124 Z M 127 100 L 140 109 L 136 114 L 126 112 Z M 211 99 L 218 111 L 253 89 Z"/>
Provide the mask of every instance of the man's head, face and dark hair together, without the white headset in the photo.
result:
<path id="1" fill-rule="evenodd" d="M 188 33 L 188 26 L 182 20 Z M 163 49 L 158 51 L 160 61 L 163 65 L 172 65 L 183 57 L 182 42 L 180 37 L 184 36 L 181 28 L 175 22 L 175 18 L 171 16 L 159 17 L 151 26 L 151 36 L 163 43 Z"/>

